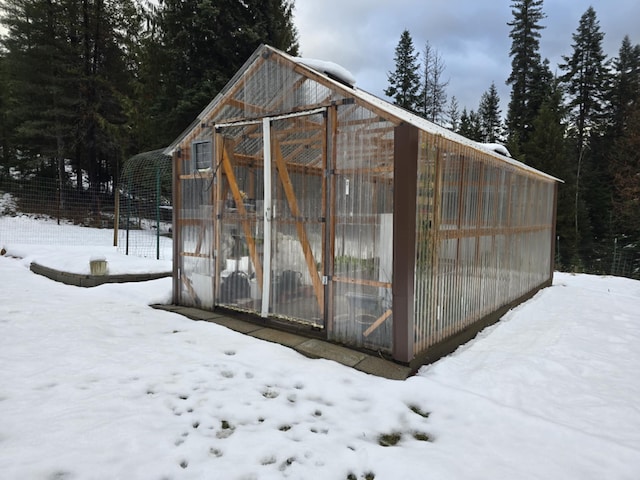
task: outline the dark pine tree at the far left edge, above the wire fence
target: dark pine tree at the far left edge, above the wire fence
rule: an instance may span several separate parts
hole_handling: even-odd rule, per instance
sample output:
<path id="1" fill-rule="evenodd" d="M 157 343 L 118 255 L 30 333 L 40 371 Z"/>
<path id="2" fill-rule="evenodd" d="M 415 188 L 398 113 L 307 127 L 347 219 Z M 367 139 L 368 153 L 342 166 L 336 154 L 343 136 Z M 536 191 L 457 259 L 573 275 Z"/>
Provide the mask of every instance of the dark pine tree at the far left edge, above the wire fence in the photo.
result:
<path id="1" fill-rule="evenodd" d="M 80 89 L 70 42 L 64 41 L 69 22 L 58 3 L 10 0 L 2 9 L 6 81 L 15 101 L 13 140 L 21 152 L 15 166 L 55 172 L 78 122 Z"/>

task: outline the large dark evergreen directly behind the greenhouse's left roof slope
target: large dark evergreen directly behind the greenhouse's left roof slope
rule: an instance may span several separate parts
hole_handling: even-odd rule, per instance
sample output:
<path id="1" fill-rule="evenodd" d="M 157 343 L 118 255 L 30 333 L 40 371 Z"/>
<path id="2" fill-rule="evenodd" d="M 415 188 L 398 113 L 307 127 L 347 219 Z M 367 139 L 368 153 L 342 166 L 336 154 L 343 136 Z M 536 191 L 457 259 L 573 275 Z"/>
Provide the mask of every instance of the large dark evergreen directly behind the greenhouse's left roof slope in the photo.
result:
<path id="1" fill-rule="evenodd" d="M 298 51 L 288 0 L 164 0 L 156 22 L 158 45 L 149 45 L 148 58 L 157 74 L 156 146 L 184 130 L 260 44 Z"/>

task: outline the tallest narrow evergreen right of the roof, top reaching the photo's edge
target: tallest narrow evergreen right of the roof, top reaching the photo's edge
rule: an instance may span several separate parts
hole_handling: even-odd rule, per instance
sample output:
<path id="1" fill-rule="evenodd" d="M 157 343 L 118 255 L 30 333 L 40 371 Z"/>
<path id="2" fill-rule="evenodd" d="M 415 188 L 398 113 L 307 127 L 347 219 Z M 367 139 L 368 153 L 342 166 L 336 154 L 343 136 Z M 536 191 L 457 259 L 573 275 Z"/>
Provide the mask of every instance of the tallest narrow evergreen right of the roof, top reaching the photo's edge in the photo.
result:
<path id="1" fill-rule="evenodd" d="M 511 4 L 513 20 L 507 25 L 511 27 L 511 74 L 507 85 L 511 85 L 511 98 L 507 110 L 507 128 L 510 144 L 519 149 L 527 141 L 532 128 L 532 121 L 540 107 L 540 99 L 544 94 L 539 92 L 545 88 L 540 83 L 543 72 L 540 59 L 540 22 L 545 18 L 542 11 L 543 0 L 514 0 Z"/>

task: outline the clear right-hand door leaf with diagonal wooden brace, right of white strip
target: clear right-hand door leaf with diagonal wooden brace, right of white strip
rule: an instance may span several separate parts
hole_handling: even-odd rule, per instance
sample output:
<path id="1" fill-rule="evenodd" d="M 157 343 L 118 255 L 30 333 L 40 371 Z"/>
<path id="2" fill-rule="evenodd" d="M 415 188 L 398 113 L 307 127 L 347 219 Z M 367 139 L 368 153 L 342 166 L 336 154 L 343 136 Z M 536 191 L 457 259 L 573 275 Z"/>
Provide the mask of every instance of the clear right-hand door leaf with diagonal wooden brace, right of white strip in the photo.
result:
<path id="1" fill-rule="evenodd" d="M 270 314 L 323 326 L 324 116 L 277 120 L 271 132 Z"/>

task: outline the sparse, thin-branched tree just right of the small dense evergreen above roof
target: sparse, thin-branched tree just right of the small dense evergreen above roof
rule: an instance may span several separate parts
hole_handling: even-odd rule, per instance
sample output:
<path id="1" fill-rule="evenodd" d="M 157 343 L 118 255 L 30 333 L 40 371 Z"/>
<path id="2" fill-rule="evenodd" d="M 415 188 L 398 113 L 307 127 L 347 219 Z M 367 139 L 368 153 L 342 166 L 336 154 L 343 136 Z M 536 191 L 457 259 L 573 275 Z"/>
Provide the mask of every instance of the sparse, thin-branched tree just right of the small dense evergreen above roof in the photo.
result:
<path id="1" fill-rule="evenodd" d="M 447 82 L 442 81 L 444 61 L 429 42 L 424 47 L 422 58 L 422 89 L 420 91 L 420 114 L 434 123 L 444 123 L 447 104 Z"/>

